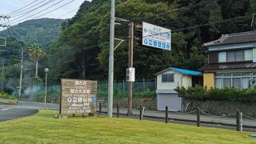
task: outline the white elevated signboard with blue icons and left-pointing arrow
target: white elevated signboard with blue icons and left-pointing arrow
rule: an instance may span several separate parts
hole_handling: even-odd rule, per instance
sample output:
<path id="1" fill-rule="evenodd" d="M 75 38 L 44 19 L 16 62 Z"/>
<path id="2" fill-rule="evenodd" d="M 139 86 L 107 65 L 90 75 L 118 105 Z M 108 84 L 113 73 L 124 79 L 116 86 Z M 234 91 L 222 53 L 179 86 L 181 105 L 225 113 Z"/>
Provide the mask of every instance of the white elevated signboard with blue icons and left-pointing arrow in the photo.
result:
<path id="1" fill-rule="evenodd" d="M 150 23 L 142 24 L 142 45 L 171 50 L 171 30 Z"/>

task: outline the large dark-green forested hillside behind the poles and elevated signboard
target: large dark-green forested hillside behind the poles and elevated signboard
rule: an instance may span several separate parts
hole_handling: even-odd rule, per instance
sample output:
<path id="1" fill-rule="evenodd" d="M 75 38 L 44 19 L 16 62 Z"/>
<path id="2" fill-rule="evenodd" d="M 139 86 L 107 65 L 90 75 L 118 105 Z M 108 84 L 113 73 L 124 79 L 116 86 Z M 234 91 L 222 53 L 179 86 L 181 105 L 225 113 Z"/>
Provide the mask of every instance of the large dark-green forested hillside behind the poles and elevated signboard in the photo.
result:
<path id="1" fill-rule="evenodd" d="M 198 70 L 206 62 L 203 42 L 221 34 L 251 30 L 255 0 L 118 0 L 116 17 L 142 24 L 149 22 L 172 30 L 172 50 L 136 46 L 136 77 L 154 78 L 169 66 Z M 47 53 L 51 78 L 106 80 L 109 56 L 110 2 L 84 2 L 78 14 L 62 24 L 62 34 Z M 114 78 L 126 78 L 128 23 L 115 26 L 115 38 L 125 39 L 114 51 Z"/>

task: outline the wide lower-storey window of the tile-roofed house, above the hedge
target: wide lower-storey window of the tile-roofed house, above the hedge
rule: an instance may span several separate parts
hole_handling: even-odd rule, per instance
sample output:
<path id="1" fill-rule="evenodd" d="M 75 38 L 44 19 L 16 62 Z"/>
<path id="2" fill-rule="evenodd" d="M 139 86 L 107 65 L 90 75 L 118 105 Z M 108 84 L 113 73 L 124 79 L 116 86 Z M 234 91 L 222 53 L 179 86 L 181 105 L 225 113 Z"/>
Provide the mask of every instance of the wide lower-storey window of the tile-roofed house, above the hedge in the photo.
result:
<path id="1" fill-rule="evenodd" d="M 218 89 L 225 87 L 234 87 L 236 89 L 246 89 L 250 87 L 252 79 L 256 80 L 256 74 L 251 73 L 234 73 L 234 74 L 216 74 L 215 86 Z"/>

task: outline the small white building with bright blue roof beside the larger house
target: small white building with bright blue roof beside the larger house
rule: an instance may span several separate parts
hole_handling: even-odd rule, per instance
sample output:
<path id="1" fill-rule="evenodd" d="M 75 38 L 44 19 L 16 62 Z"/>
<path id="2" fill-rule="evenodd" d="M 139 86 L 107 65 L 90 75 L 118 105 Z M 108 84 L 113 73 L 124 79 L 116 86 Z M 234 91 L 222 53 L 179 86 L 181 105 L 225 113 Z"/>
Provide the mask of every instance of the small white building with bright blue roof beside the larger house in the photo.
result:
<path id="1" fill-rule="evenodd" d="M 162 70 L 157 74 L 157 108 L 158 110 L 181 111 L 182 98 L 178 97 L 178 93 L 174 90 L 177 86 L 194 86 L 194 84 L 202 84 L 202 78 L 199 77 L 201 72 L 193 70 L 178 69 L 170 67 Z"/>

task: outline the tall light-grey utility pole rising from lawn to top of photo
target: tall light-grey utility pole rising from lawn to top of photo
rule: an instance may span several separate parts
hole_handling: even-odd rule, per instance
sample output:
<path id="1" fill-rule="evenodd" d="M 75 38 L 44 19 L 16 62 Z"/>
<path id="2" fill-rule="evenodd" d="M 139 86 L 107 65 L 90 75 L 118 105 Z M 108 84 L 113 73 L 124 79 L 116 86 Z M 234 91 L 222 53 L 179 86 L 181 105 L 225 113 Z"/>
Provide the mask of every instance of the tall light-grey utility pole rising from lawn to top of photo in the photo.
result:
<path id="1" fill-rule="evenodd" d="M 114 0 L 111 0 L 110 11 L 110 59 L 109 59 L 109 90 L 108 90 L 108 117 L 113 113 L 113 80 L 114 80 Z"/>

